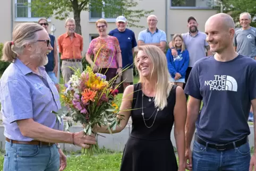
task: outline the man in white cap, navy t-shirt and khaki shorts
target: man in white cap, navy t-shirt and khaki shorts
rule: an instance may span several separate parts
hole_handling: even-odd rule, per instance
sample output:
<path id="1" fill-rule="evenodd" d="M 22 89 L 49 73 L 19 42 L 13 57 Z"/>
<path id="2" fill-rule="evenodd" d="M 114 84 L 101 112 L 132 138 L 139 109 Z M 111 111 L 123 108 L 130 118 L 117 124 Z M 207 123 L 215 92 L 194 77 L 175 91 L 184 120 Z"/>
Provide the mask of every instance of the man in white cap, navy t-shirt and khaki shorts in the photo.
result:
<path id="1" fill-rule="evenodd" d="M 124 89 L 133 83 L 133 54 L 134 47 L 137 46 L 134 32 L 126 28 L 126 18 L 118 16 L 116 19 L 117 28 L 109 32 L 109 36 L 114 36 L 118 39 L 122 51 L 123 61 L 123 86 Z M 116 83 L 121 82 L 121 76 L 116 80 Z"/>

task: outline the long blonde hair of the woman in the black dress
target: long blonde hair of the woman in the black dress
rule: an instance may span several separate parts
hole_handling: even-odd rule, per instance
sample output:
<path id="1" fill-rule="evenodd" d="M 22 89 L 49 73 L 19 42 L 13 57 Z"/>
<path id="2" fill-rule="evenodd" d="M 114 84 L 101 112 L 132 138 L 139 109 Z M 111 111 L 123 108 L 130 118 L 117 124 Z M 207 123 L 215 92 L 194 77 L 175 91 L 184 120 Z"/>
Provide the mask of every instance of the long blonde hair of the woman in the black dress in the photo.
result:
<path id="1" fill-rule="evenodd" d="M 153 68 L 151 70 L 150 79 L 156 82 L 155 87 L 155 107 L 159 107 L 163 110 L 167 106 L 167 98 L 170 90 L 173 87 L 173 83 L 170 82 L 170 74 L 167 69 L 167 60 L 164 52 L 155 45 L 143 45 L 138 48 L 142 50 L 152 61 Z M 138 69 L 138 62 L 135 60 L 135 65 Z M 144 78 L 139 71 L 141 84 L 144 83 Z"/>

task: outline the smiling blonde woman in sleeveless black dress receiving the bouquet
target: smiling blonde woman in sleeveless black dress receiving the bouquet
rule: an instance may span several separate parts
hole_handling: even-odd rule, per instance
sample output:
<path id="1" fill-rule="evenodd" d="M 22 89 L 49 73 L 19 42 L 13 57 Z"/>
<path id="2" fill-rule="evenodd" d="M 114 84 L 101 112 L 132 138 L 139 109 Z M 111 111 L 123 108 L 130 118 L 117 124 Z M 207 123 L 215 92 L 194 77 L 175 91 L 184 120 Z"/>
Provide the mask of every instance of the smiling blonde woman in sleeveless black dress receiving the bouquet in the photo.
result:
<path id="1" fill-rule="evenodd" d="M 184 171 L 186 98 L 183 89 L 166 79 L 170 74 L 165 54 L 159 47 L 140 46 L 135 65 L 140 81 L 125 89 L 120 108 L 124 119 L 113 131 L 121 132 L 132 117 L 132 132 L 124 149 L 121 171 Z M 178 165 L 170 141 L 173 124 Z M 106 127 L 96 127 L 95 131 L 109 133 Z"/>

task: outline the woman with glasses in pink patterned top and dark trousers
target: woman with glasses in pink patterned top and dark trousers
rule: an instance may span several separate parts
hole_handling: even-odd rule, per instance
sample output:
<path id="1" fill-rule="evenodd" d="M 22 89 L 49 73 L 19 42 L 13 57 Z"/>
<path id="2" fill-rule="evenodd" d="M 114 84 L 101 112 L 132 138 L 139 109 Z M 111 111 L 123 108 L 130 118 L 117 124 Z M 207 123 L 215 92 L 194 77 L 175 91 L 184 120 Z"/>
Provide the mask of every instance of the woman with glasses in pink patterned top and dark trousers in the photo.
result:
<path id="1" fill-rule="evenodd" d="M 122 55 L 119 42 L 116 37 L 107 35 L 107 22 L 104 19 L 96 21 L 99 37 L 91 40 L 87 50 L 86 60 L 93 66 L 94 72 L 106 75 L 107 80 L 114 78 L 117 74 L 121 76 Z M 97 56 L 93 63 L 91 56 Z"/>

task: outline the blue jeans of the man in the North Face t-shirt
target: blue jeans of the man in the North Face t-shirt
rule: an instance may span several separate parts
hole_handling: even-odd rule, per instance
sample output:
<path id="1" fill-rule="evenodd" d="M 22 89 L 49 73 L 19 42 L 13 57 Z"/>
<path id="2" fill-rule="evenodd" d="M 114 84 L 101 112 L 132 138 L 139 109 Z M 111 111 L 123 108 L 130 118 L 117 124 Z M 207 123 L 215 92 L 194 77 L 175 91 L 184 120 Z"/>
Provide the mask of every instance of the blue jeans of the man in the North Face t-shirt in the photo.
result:
<path id="1" fill-rule="evenodd" d="M 217 151 L 194 141 L 192 152 L 193 171 L 248 171 L 250 160 L 251 153 L 248 142 L 231 150 Z"/>

